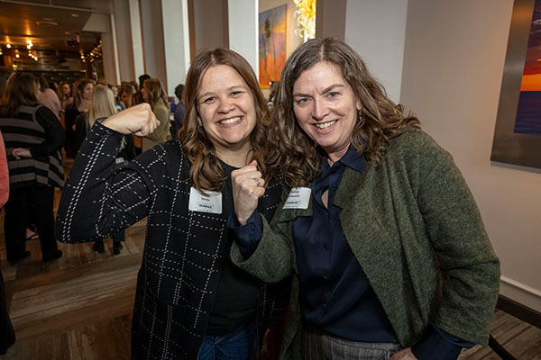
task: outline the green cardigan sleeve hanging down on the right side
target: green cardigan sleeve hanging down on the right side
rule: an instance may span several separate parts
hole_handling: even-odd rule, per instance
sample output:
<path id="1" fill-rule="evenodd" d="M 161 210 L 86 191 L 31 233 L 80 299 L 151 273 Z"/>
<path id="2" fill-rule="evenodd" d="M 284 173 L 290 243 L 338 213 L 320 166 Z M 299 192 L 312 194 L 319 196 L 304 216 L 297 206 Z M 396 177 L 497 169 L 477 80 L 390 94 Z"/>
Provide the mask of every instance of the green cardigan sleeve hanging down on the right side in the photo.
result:
<path id="1" fill-rule="evenodd" d="M 486 343 L 499 293 L 500 261 L 452 157 L 426 139 L 417 158 L 418 207 L 443 273 L 441 302 L 431 321 L 456 338 Z"/>

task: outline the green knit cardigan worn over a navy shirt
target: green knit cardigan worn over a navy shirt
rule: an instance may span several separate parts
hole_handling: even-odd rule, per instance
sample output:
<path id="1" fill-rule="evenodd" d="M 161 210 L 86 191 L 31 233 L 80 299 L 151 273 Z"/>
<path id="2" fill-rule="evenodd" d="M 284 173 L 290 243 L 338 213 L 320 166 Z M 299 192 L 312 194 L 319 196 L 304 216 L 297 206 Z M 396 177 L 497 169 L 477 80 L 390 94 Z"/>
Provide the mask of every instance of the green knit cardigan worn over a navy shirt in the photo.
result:
<path id="1" fill-rule="evenodd" d="M 286 189 L 282 203 L 289 193 Z M 348 167 L 335 195 L 349 246 L 387 314 L 402 347 L 422 338 L 429 322 L 456 338 L 486 344 L 499 293 L 495 256 L 453 158 L 422 130 L 390 140 L 380 166 Z M 263 220 L 252 257 L 232 247 L 234 263 L 266 282 L 293 275 L 280 359 L 302 352 L 298 267 L 291 223 L 307 210 Z"/>

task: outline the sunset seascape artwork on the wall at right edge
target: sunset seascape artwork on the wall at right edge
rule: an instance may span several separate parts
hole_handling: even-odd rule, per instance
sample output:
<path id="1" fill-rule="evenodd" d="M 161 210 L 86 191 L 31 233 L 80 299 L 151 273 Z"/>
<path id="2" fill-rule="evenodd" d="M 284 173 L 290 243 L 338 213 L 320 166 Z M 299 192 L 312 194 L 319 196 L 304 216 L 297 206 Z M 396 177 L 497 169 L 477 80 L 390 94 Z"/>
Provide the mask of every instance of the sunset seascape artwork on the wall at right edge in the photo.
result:
<path id="1" fill-rule="evenodd" d="M 491 160 L 541 169 L 541 0 L 515 0 Z"/>

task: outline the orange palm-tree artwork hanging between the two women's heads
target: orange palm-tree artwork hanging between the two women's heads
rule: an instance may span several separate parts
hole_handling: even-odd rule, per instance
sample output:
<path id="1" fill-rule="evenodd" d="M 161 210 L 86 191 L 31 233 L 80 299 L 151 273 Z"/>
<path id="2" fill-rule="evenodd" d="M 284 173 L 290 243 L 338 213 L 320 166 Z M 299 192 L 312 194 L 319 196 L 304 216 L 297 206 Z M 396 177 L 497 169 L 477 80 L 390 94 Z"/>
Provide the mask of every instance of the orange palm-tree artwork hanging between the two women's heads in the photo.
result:
<path id="1" fill-rule="evenodd" d="M 260 86 L 271 87 L 280 80 L 286 65 L 286 5 L 259 14 L 259 72 Z"/>

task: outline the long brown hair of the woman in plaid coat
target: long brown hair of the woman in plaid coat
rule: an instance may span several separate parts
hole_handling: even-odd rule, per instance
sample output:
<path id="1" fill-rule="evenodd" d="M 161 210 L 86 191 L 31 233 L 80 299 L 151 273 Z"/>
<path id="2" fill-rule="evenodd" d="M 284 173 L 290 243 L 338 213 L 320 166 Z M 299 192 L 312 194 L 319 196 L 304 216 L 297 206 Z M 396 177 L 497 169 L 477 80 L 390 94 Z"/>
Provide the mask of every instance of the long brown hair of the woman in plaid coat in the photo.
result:
<path id="1" fill-rule="evenodd" d="M 222 166 L 215 157 L 215 148 L 206 136 L 202 126 L 197 124 L 197 92 L 203 76 L 209 67 L 226 65 L 243 77 L 250 89 L 255 105 L 257 121 L 250 136 L 252 151 L 246 159 L 246 163 L 257 160 L 258 168 L 266 183 L 269 183 L 274 171 L 265 164 L 265 155 L 270 148 L 267 136 L 269 128 L 269 114 L 267 101 L 261 94 L 259 84 L 252 67 L 241 55 L 233 50 L 218 48 L 206 50 L 197 55 L 191 67 L 189 67 L 184 88 L 184 100 L 186 104 L 186 118 L 184 126 L 179 130 L 179 139 L 182 149 L 192 166 L 189 171 L 189 179 L 199 191 L 216 190 L 224 187 L 225 176 Z M 146 83 L 145 83 L 146 84 Z"/>

